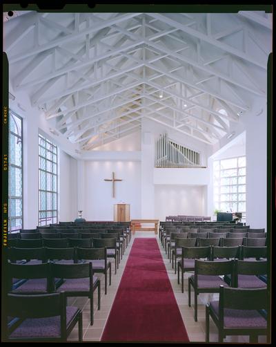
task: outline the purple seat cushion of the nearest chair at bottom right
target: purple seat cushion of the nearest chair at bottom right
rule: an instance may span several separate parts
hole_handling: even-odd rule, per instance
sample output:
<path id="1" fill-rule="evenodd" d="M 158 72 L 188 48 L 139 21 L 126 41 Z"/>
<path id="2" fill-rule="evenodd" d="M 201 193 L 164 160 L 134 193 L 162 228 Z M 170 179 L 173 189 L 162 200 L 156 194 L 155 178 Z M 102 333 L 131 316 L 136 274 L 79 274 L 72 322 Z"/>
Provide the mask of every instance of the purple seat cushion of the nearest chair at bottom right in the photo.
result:
<path id="1" fill-rule="evenodd" d="M 210 309 L 219 317 L 219 301 L 210 301 Z M 266 319 L 257 310 L 224 308 L 225 328 L 266 328 Z"/>

